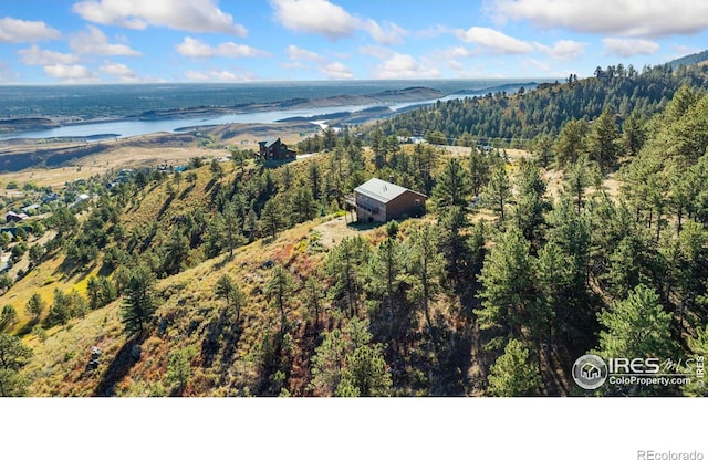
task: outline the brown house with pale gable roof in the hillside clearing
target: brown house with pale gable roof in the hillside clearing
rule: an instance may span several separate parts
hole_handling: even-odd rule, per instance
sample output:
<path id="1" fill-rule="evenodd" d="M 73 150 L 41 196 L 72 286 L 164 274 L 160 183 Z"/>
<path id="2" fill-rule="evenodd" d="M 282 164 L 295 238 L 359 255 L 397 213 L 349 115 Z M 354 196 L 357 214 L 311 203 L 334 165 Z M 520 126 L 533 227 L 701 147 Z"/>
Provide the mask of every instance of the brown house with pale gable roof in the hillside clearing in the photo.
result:
<path id="1" fill-rule="evenodd" d="M 428 197 L 382 179 L 371 179 L 354 189 L 350 205 L 356 208 L 356 219 L 386 222 L 392 219 L 420 216 Z"/>

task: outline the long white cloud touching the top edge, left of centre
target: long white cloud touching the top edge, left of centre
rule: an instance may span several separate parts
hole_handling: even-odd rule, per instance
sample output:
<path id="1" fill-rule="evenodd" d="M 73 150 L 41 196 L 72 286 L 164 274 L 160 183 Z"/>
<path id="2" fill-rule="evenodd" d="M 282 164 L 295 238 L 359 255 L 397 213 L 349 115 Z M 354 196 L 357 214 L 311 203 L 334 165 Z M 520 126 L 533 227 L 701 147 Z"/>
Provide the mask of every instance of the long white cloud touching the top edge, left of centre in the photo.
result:
<path id="1" fill-rule="evenodd" d="M 73 11 L 104 25 L 143 30 L 149 25 L 188 32 L 246 36 L 248 31 L 219 9 L 216 0 L 83 0 Z"/>

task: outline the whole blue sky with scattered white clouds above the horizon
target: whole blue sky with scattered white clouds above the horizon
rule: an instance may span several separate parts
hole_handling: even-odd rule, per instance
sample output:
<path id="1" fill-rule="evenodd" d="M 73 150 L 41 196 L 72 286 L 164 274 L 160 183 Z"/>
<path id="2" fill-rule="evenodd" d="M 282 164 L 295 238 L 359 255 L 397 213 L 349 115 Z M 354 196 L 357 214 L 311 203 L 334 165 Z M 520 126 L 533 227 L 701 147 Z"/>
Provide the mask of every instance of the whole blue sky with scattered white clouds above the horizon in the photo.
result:
<path id="1" fill-rule="evenodd" d="M 704 0 L 3 0 L 0 84 L 583 77 L 707 39 Z"/>

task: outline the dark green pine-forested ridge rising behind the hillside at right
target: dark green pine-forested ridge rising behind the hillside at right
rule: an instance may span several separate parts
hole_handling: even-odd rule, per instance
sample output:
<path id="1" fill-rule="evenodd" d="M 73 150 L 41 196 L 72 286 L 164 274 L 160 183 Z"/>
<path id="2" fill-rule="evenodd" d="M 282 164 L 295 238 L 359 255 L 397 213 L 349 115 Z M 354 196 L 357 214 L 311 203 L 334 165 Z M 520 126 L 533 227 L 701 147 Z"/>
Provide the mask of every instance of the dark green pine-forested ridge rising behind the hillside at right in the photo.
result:
<path id="1" fill-rule="evenodd" d="M 563 84 L 541 84 L 518 94 L 438 102 L 429 108 L 402 114 L 378 125 L 384 135 L 426 137 L 434 144 L 527 147 L 539 135 L 559 134 L 571 119 L 590 122 L 603 111 L 620 124 L 631 116 L 647 118 L 663 109 L 681 86 L 705 87 L 708 76 L 697 67 L 669 64 L 635 70 L 622 64 L 597 67 L 595 76 Z"/>

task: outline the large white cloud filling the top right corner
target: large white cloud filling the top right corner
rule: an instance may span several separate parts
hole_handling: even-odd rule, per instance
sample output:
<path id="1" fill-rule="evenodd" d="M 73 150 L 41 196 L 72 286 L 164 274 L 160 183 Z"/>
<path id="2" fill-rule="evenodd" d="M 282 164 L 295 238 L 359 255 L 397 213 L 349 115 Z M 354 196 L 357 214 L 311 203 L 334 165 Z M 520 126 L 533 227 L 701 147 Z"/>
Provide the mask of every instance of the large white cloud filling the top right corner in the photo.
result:
<path id="1" fill-rule="evenodd" d="M 492 0 L 501 22 L 529 20 L 542 28 L 628 36 L 695 34 L 708 29 L 704 0 Z"/>

